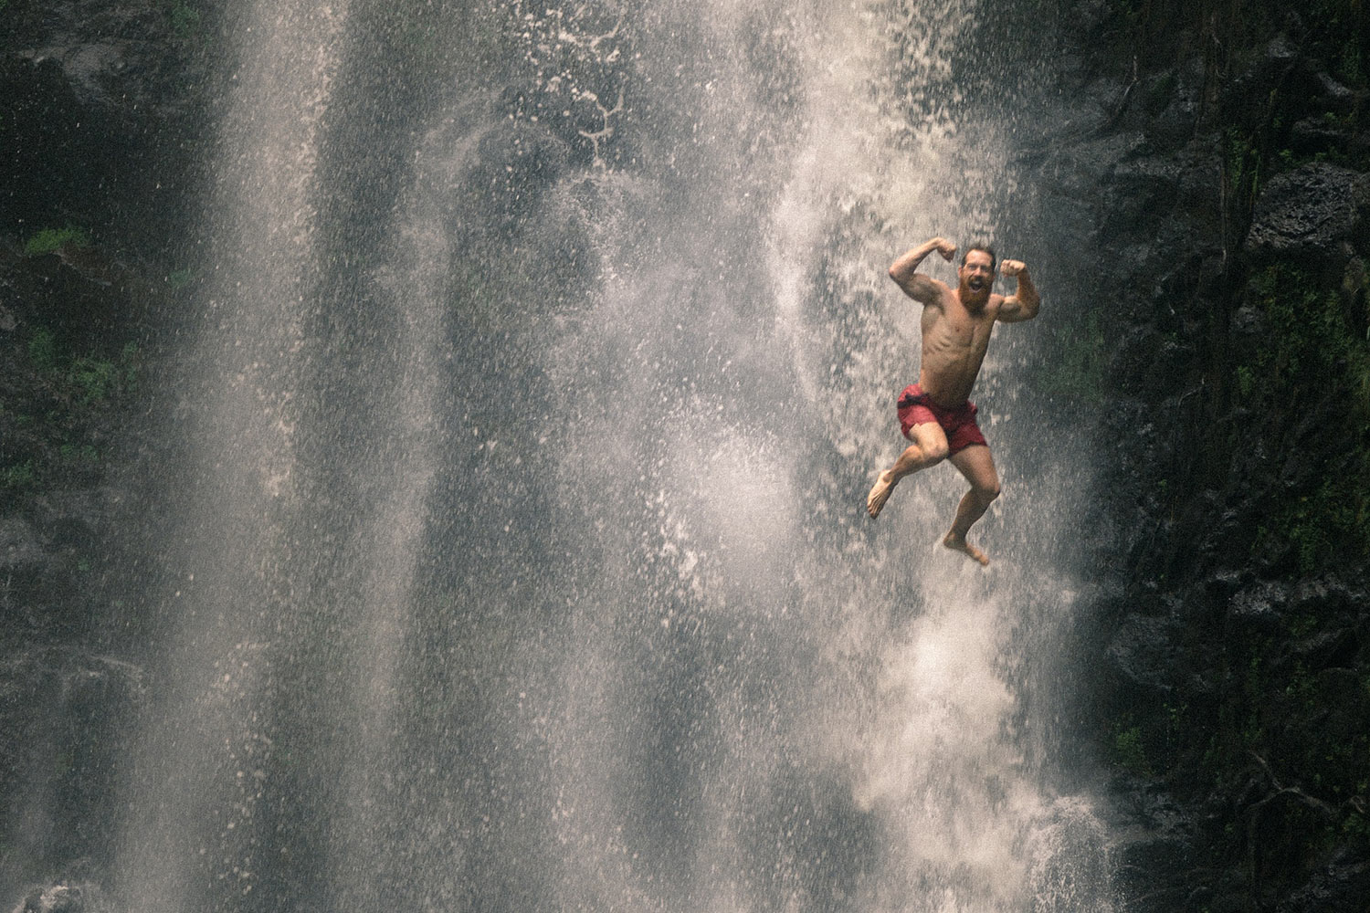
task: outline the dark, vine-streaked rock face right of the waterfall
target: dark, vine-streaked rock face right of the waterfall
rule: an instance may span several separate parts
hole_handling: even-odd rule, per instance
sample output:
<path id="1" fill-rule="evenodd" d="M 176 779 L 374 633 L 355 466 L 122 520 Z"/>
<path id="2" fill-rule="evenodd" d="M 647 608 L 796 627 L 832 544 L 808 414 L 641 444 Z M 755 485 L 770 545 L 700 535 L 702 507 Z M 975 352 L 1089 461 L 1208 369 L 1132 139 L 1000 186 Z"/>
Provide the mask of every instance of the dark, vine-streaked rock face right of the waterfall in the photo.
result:
<path id="1" fill-rule="evenodd" d="M 1110 322 L 1081 716 L 1123 812 L 1123 905 L 1362 909 L 1366 77 L 1282 15 L 1225 63 L 1141 66 L 1107 4 L 1075 5 L 1075 125 L 1029 144 L 1025 183 L 1097 252 L 1073 292 Z M 1340 34 L 1365 52 L 1363 25 Z"/>

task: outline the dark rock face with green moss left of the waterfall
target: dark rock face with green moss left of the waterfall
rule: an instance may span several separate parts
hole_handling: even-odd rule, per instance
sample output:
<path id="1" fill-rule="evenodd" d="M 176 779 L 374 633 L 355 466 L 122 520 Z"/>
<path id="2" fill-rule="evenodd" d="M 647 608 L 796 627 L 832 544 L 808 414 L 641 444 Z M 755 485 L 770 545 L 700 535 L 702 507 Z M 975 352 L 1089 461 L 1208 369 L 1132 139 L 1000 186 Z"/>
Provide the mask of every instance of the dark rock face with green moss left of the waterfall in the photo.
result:
<path id="1" fill-rule="evenodd" d="M 182 21 L 173 11 L 182 8 Z M 144 705 L 99 619 L 122 479 L 195 208 L 185 4 L 0 4 L 0 902 L 103 909 L 112 777 Z M 204 23 L 207 25 L 207 23 Z M 27 890 L 37 879 L 51 887 Z"/>

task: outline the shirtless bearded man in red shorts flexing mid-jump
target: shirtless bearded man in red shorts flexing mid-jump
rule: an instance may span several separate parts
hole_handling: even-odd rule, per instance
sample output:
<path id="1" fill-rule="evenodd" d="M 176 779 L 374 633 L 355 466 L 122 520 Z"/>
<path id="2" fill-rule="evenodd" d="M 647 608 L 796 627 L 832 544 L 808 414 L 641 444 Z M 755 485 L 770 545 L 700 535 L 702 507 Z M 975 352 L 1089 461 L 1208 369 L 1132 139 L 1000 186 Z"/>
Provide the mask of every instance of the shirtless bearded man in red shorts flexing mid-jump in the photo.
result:
<path id="1" fill-rule="evenodd" d="M 964 552 L 981 564 L 989 564 L 984 552 L 966 541 L 971 524 L 984 516 L 999 497 L 999 474 L 989 456 L 985 435 L 975 424 L 975 405 L 970 389 L 980 374 L 980 364 L 989 348 L 995 320 L 1018 323 L 1037 316 L 1041 298 L 1018 260 L 1004 260 L 1000 272 L 1018 279 L 1018 289 L 1007 298 L 992 294 L 995 252 L 985 245 L 966 250 L 956 271 L 955 289 L 917 272 L 923 259 L 936 250 L 951 261 L 956 245 L 933 238 L 912 248 L 889 267 L 889 278 L 904 294 L 923 305 L 923 352 L 918 383 L 899 396 L 899 424 L 912 445 L 895 465 L 880 474 L 866 496 L 866 512 L 875 517 L 891 491 L 906 475 L 926 470 L 949 459 L 970 482 L 970 491 L 956 508 L 951 531 L 943 538 L 948 549 Z"/>

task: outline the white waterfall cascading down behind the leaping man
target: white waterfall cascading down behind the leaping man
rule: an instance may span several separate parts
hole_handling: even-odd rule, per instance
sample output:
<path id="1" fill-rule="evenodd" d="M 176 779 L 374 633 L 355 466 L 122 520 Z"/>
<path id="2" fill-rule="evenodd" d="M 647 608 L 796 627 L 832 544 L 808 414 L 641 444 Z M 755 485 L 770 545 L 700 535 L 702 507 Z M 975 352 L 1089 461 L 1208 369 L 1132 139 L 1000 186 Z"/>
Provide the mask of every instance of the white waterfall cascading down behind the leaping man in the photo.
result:
<path id="1" fill-rule="evenodd" d="M 1088 467 L 1014 420 L 1030 327 L 977 387 L 993 567 L 936 545 L 947 467 L 863 515 L 917 371 L 885 266 L 1041 242 L 977 12 L 242 16 L 126 909 L 1110 909 L 1052 787 Z"/>

